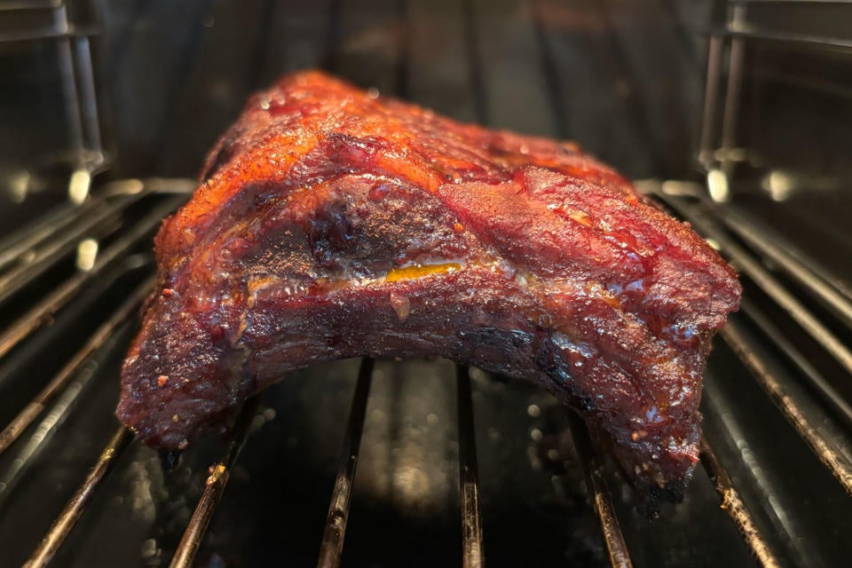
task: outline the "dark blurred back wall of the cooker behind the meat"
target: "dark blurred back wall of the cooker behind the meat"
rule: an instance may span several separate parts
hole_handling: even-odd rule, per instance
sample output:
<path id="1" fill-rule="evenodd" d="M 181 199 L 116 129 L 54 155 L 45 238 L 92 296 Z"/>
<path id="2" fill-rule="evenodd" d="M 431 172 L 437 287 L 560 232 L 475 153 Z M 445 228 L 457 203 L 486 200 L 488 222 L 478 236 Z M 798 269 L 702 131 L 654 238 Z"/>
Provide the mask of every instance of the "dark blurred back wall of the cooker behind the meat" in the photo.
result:
<path id="1" fill-rule="evenodd" d="M 464 121 L 574 138 L 630 177 L 682 177 L 707 2 L 99 2 L 118 175 L 195 175 L 248 94 L 322 67 Z"/>

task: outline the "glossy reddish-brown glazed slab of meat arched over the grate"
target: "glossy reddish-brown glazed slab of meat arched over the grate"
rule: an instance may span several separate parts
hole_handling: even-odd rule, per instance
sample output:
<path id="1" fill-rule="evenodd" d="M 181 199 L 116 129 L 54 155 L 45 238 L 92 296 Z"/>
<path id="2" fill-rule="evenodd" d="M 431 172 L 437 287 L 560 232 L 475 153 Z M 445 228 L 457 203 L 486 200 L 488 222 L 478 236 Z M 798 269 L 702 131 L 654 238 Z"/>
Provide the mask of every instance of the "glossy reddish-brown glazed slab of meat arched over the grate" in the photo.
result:
<path id="1" fill-rule="evenodd" d="M 540 384 L 641 493 L 681 493 L 740 287 L 613 170 L 306 72 L 248 101 L 202 179 L 122 370 L 147 444 L 314 361 L 443 356 Z"/>

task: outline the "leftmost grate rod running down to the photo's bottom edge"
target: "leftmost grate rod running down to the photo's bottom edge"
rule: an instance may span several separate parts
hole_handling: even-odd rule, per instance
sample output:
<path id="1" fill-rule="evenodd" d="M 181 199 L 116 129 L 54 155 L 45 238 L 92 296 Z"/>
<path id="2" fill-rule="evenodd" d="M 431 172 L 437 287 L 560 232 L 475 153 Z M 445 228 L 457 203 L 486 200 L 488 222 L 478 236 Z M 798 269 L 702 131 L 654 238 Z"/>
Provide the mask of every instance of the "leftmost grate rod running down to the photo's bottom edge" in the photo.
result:
<path id="1" fill-rule="evenodd" d="M 95 467 L 91 469 L 86 480 L 83 481 L 83 485 L 77 488 L 74 496 L 67 502 L 65 509 L 62 509 L 62 512 L 59 513 L 59 517 L 53 522 L 42 542 L 29 557 L 27 563 L 24 564 L 24 568 L 41 568 L 51 562 L 59 547 L 71 533 L 77 520 L 83 515 L 83 511 L 89 505 L 98 485 L 112 469 L 124 448 L 130 444 L 131 439 L 133 439 L 133 434 L 125 426 L 121 426 L 115 431 L 113 438 L 106 445 L 103 453 L 100 454 Z"/>

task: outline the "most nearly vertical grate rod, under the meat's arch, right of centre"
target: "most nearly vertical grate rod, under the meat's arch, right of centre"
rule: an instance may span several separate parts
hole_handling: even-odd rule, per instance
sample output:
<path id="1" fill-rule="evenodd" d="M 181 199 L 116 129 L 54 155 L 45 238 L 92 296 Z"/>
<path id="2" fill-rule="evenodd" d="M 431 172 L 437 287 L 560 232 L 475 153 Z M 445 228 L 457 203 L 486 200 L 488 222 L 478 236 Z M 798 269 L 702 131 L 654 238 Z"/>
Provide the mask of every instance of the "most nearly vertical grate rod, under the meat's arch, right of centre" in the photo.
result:
<path id="1" fill-rule="evenodd" d="M 461 565 L 485 566 L 482 516 L 479 512 L 477 438 L 473 422 L 468 367 L 456 367 L 459 405 L 459 484 L 461 487 Z"/>

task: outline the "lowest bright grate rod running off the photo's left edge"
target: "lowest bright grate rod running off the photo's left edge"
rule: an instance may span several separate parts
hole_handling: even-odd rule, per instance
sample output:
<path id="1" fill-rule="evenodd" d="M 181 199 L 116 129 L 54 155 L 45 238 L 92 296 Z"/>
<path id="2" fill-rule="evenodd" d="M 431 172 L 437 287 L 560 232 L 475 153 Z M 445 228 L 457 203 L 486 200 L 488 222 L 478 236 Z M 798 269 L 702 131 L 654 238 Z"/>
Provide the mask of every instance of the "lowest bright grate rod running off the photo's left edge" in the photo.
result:
<path id="1" fill-rule="evenodd" d="M 80 367 L 83 366 L 83 363 L 85 363 L 86 359 L 88 359 L 94 351 L 97 351 L 101 345 L 106 343 L 106 341 L 112 337 L 115 329 L 120 327 L 125 321 L 136 314 L 139 304 L 142 304 L 142 301 L 151 292 L 152 288 L 154 288 L 154 278 L 146 279 L 141 285 L 139 285 L 138 288 L 130 294 L 130 297 L 119 307 L 119 309 L 114 312 L 112 317 L 107 319 L 106 322 L 104 322 L 104 324 L 95 331 L 89 341 L 83 345 L 83 349 L 77 351 L 74 359 L 69 360 L 65 367 L 62 367 L 59 373 L 53 377 L 51 382 L 36 395 L 36 398 L 33 398 L 33 400 L 20 411 L 20 414 L 15 416 L 12 422 L 9 422 L 4 430 L 0 432 L 0 454 L 3 454 L 9 446 L 12 446 L 12 443 L 20 437 L 21 433 L 23 433 L 23 431 L 26 430 L 34 420 L 36 420 L 36 417 L 43 412 L 44 408 L 49 402 L 51 402 L 59 390 L 65 387 L 75 376 Z"/>

